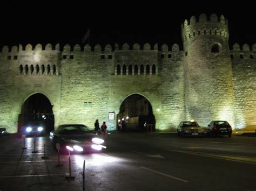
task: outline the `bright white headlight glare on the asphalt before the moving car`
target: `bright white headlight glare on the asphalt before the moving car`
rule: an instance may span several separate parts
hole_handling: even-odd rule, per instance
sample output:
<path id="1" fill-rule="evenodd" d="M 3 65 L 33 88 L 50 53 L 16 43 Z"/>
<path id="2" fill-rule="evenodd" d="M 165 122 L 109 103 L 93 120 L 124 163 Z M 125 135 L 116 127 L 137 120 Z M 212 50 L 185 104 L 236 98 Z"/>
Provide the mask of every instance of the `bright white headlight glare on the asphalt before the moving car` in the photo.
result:
<path id="1" fill-rule="evenodd" d="M 110 155 L 103 155 L 101 153 L 93 153 L 93 154 L 84 154 L 84 155 L 73 155 L 73 160 L 75 160 L 76 165 L 79 168 L 83 168 L 83 162 L 85 160 L 85 166 L 104 166 L 107 164 L 116 164 L 117 162 L 121 162 L 124 159 L 120 159 L 117 157 L 112 157 Z"/>

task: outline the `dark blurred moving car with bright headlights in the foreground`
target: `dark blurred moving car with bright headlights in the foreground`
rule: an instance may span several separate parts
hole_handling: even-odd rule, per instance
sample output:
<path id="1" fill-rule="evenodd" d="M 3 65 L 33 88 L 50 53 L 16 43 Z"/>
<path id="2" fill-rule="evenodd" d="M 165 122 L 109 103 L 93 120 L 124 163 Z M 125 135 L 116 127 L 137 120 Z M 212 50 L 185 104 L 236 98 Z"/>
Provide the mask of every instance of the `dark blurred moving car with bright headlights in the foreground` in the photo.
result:
<path id="1" fill-rule="evenodd" d="M 60 151 L 67 151 L 66 146 L 71 147 L 74 152 L 95 152 L 106 148 L 104 140 L 83 124 L 64 124 L 58 126 L 57 130 L 50 132 L 53 147 L 59 143 Z"/>

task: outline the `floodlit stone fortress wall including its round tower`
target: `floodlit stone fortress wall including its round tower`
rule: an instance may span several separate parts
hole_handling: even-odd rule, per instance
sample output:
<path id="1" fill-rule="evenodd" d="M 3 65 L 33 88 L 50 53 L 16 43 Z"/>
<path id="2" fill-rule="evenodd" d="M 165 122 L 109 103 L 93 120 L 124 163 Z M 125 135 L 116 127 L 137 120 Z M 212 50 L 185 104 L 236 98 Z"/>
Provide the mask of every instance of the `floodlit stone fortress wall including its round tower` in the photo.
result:
<path id="1" fill-rule="evenodd" d="M 256 45 L 228 46 L 228 24 L 215 14 L 181 25 L 184 51 L 174 44 L 38 44 L 2 48 L 0 126 L 17 132 L 18 114 L 29 96 L 42 93 L 53 105 L 55 126 L 109 120 L 132 94 L 149 100 L 156 129 L 173 130 L 193 118 L 206 126 L 227 120 L 234 128 L 255 126 Z M 217 51 L 216 51 L 217 49 Z"/>

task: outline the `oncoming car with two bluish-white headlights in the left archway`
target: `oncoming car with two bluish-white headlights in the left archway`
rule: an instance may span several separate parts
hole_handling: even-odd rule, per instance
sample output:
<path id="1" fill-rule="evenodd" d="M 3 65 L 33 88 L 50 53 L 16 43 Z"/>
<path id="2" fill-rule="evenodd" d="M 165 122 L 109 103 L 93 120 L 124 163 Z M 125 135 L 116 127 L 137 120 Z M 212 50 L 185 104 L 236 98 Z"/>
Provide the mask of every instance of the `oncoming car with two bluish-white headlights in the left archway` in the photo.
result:
<path id="1" fill-rule="evenodd" d="M 43 122 L 29 122 L 23 126 L 22 133 L 28 136 L 42 136 L 45 133 Z"/>

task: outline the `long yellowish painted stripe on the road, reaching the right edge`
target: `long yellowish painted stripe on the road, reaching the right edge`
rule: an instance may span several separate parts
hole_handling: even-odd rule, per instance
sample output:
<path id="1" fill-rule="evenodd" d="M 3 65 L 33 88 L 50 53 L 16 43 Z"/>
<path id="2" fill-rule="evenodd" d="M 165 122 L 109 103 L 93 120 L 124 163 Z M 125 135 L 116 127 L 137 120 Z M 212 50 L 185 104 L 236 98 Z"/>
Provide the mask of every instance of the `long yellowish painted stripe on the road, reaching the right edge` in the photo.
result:
<path id="1" fill-rule="evenodd" d="M 204 152 L 191 152 L 191 151 L 177 151 L 177 150 L 168 150 L 168 151 L 180 152 L 180 153 L 185 153 L 185 154 L 194 154 L 194 155 L 200 155 L 203 157 L 231 160 L 231 161 L 235 161 L 235 162 L 243 162 L 243 163 L 247 163 L 247 164 L 251 164 L 251 165 L 256 165 L 256 158 L 249 157 L 249 156 L 226 155 L 226 154 L 215 154 L 215 153 L 204 153 Z"/>

